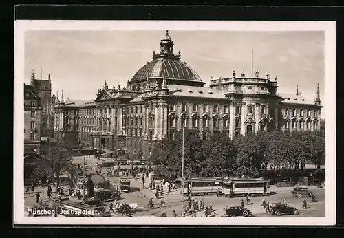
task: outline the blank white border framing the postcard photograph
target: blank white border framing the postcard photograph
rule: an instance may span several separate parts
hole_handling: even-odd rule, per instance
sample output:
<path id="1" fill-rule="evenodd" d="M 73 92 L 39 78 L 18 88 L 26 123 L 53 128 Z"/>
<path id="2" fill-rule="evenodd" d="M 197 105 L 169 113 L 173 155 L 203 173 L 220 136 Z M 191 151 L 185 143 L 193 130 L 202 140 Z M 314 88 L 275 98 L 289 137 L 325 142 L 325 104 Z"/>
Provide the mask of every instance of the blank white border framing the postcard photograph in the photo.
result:
<path id="1" fill-rule="evenodd" d="M 24 34 L 27 30 L 222 30 L 325 32 L 325 217 L 25 217 L 23 185 Z M 336 22 L 334 21 L 15 21 L 14 224 L 65 225 L 296 225 L 336 222 Z"/>

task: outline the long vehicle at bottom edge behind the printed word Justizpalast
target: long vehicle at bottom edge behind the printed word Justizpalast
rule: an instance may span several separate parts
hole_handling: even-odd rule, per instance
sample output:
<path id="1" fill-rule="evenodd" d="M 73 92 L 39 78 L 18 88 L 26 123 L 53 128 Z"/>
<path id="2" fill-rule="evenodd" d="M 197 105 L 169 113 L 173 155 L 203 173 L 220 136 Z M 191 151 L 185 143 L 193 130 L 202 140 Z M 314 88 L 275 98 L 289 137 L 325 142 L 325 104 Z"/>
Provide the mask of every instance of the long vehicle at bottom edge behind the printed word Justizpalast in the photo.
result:
<path id="1" fill-rule="evenodd" d="M 110 217 L 104 206 L 91 206 L 73 202 L 68 197 L 54 202 L 55 217 Z"/>

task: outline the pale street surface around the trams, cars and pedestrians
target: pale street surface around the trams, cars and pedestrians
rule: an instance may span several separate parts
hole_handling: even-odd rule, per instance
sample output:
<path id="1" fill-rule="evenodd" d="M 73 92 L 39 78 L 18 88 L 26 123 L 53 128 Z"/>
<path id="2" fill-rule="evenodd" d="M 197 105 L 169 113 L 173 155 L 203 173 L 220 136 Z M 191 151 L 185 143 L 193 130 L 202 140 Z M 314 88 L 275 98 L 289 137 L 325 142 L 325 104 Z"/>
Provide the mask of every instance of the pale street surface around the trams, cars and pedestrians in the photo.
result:
<path id="1" fill-rule="evenodd" d="M 83 163 L 83 156 L 74 157 L 74 163 Z M 96 158 L 93 157 L 86 157 L 86 163 L 90 166 L 94 167 L 94 164 L 99 162 Z M 107 179 L 106 171 L 104 171 L 103 176 Z M 138 209 L 134 210 L 132 216 L 160 216 L 162 213 L 166 213 L 167 216 L 171 216 L 173 210 L 175 213 L 180 217 L 182 215 L 182 206 L 185 204 L 187 199 L 186 196 L 180 193 L 179 189 L 171 190 L 170 193 L 167 193 L 166 187 L 164 187 L 164 193 L 162 195 L 162 199 L 166 202 L 166 205 L 162 208 L 155 208 L 150 210 L 149 206 L 149 199 L 153 199 L 155 204 L 160 203 L 160 198 L 155 198 L 155 189 L 149 190 L 149 179 L 146 178 L 144 188 L 142 188 L 142 175 L 138 175 L 138 179 L 135 180 L 133 177 L 128 177 L 131 180 L 131 188 L 128 193 L 122 193 L 121 197 L 118 202 L 123 204 L 124 202 L 127 204 L 138 204 Z M 116 186 L 118 184 L 120 177 L 109 177 L 112 186 Z M 66 183 L 63 184 L 65 191 L 69 188 L 69 185 Z M 55 187 L 52 187 L 53 194 L 55 192 Z M 318 198 L 318 202 L 312 203 L 310 202 L 310 198 L 306 198 L 308 201 L 308 209 L 302 209 L 302 202 L 303 198 L 299 199 L 297 197 L 292 197 L 292 187 L 276 187 L 271 186 L 271 194 L 269 196 L 264 197 L 250 197 L 251 201 L 253 202 L 252 205 L 245 205 L 249 208 L 255 217 L 266 217 L 272 216 L 270 213 L 265 213 L 265 210 L 261 208 L 262 199 L 266 199 L 266 201 L 271 203 L 275 202 L 283 202 L 283 199 L 286 199 L 286 202 L 290 206 L 294 206 L 295 208 L 299 209 L 299 215 L 301 217 L 324 217 L 325 216 L 325 189 L 324 188 L 316 188 L 316 187 L 309 187 L 310 191 L 316 193 L 316 197 Z M 43 202 L 47 202 L 50 206 L 52 206 L 52 199 L 47 199 L 47 187 L 37 187 L 35 189 L 35 193 L 39 192 L 41 194 L 41 199 L 43 198 Z M 71 199 L 76 198 L 72 197 Z M 197 196 L 191 197 L 191 199 L 203 199 L 205 206 L 207 206 L 210 202 L 213 204 L 213 210 L 215 210 L 215 217 L 221 217 L 224 215 L 224 209 L 227 205 L 228 206 L 240 206 L 241 199 L 245 197 L 235 197 L 235 198 L 228 198 L 224 196 L 217 197 L 216 195 L 213 196 Z M 106 210 L 109 210 L 109 203 L 105 203 Z M 25 194 L 25 208 L 33 206 L 36 204 L 36 196 L 34 193 Z M 116 209 L 115 209 L 116 210 Z M 197 211 L 197 217 L 205 217 L 204 210 Z M 112 214 L 113 216 L 118 216 L 118 213 Z M 294 216 L 294 215 L 290 215 Z"/>

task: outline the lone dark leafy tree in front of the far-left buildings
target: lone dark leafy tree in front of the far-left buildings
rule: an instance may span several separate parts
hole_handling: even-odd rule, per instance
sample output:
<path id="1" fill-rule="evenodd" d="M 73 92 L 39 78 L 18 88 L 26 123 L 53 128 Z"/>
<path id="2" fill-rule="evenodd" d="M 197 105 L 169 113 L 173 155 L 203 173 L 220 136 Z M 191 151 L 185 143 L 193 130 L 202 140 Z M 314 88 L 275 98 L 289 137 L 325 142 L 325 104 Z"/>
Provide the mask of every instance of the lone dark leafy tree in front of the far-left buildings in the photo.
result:
<path id="1" fill-rule="evenodd" d="M 42 174 L 42 171 L 46 171 L 46 174 L 52 174 L 53 183 L 56 175 L 57 186 L 59 186 L 63 173 L 69 171 L 72 167 L 72 156 L 69 149 L 65 144 L 54 144 L 49 147 L 47 153 L 42 155 L 36 173 Z"/>

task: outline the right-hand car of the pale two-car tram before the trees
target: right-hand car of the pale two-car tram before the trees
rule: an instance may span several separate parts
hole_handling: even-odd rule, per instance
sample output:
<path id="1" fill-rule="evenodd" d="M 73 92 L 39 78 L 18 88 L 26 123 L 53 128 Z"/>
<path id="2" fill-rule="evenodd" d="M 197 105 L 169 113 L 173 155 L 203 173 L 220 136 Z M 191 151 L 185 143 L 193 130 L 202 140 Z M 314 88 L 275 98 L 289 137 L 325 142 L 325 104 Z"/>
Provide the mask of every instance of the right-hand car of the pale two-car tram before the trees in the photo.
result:
<path id="1" fill-rule="evenodd" d="M 222 193 L 228 197 L 270 194 L 270 180 L 264 178 L 231 178 L 222 182 Z"/>

